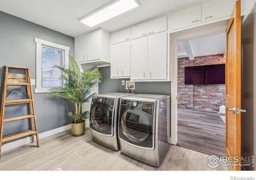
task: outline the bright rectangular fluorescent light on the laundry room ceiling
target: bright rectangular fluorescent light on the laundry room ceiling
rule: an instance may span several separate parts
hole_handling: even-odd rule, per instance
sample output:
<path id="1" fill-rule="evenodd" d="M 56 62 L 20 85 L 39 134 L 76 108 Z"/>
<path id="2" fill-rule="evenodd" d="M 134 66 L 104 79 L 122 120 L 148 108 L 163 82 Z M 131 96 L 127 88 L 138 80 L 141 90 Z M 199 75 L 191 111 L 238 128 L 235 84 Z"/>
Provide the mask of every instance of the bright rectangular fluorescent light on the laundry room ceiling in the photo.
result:
<path id="1" fill-rule="evenodd" d="M 115 0 L 107 6 L 104 6 L 95 12 L 92 12 L 88 16 L 85 16 L 79 21 L 86 24 L 87 26 L 92 27 L 115 16 L 118 16 L 119 14 L 122 14 L 128 10 L 136 8 L 139 5 L 140 3 L 137 0 Z"/>

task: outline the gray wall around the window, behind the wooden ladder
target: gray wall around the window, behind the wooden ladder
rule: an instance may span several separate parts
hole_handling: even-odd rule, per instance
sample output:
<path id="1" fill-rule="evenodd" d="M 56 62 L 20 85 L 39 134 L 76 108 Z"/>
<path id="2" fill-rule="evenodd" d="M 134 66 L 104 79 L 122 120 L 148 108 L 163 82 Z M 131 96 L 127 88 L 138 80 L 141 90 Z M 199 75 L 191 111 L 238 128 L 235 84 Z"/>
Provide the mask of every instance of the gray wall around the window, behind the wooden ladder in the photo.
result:
<path id="1" fill-rule="evenodd" d="M 23 20 L 0 11 L 0 94 L 4 83 L 6 65 L 30 68 L 32 79 L 36 79 L 36 43 L 39 38 L 70 47 L 70 55 L 74 56 L 74 38 L 60 32 Z M 17 72 L 17 71 L 16 71 Z M 33 92 L 34 88 L 33 87 Z M 12 87 L 13 88 L 13 87 Z M 9 89 L 10 90 L 10 89 Z M 8 99 L 24 98 L 19 93 Z M 70 124 L 67 113 L 71 105 L 66 100 L 49 100 L 46 93 L 34 94 L 38 132 L 46 132 Z M 26 104 L 6 107 L 5 118 L 28 114 Z M 9 135 L 30 128 L 29 120 L 20 120 L 4 124 L 3 135 Z"/>

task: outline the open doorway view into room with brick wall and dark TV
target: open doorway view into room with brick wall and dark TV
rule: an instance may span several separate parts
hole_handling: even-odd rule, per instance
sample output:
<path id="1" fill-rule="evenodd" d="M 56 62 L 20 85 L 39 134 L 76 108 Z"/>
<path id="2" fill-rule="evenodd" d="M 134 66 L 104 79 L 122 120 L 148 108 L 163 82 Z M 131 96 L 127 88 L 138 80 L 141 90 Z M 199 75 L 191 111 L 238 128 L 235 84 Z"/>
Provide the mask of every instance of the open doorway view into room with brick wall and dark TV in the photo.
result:
<path id="1" fill-rule="evenodd" d="M 225 155 L 226 34 L 178 42 L 177 145 Z"/>

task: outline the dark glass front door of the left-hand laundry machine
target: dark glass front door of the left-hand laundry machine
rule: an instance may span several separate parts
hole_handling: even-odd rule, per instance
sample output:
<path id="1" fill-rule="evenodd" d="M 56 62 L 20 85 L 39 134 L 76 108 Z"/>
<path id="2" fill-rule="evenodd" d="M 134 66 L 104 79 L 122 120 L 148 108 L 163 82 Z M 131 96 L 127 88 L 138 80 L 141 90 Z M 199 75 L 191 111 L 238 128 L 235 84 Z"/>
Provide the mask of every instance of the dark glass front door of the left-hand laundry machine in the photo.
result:
<path id="1" fill-rule="evenodd" d="M 113 136 L 114 98 L 92 97 L 90 128 L 99 134 Z"/>

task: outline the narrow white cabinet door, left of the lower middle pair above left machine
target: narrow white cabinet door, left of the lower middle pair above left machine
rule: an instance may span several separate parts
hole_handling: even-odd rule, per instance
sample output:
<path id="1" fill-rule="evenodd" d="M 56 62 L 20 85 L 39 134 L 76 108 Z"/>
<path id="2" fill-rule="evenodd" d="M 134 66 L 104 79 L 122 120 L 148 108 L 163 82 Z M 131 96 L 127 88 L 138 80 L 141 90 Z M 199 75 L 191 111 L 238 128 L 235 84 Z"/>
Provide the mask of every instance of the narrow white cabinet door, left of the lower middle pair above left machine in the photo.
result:
<path id="1" fill-rule="evenodd" d="M 111 54 L 110 54 L 110 68 L 111 68 L 111 77 L 119 77 L 120 76 L 120 58 L 122 52 L 120 52 L 120 44 L 111 45 Z"/>

